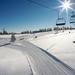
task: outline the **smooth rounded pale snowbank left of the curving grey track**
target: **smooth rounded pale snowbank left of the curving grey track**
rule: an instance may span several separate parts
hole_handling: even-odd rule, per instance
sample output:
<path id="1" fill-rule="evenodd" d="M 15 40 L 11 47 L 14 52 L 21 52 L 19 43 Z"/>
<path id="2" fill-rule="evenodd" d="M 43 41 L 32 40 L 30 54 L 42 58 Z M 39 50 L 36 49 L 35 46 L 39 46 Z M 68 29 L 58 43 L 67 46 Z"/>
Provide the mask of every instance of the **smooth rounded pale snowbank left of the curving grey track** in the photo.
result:
<path id="1" fill-rule="evenodd" d="M 30 75 L 25 55 L 15 49 L 0 47 L 0 75 Z"/>

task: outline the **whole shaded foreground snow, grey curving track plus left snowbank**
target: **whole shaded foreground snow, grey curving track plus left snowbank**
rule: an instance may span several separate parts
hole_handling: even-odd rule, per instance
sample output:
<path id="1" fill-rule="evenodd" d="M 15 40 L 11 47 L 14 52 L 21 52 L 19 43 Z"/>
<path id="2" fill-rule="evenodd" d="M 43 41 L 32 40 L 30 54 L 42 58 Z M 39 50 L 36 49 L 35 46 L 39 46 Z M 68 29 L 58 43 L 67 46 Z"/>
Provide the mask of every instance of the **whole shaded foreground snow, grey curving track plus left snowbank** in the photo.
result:
<path id="1" fill-rule="evenodd" d="M 0 53 L 1 75 L 75 75 L 71 67 L 24 40 L 0 47 Z"/>

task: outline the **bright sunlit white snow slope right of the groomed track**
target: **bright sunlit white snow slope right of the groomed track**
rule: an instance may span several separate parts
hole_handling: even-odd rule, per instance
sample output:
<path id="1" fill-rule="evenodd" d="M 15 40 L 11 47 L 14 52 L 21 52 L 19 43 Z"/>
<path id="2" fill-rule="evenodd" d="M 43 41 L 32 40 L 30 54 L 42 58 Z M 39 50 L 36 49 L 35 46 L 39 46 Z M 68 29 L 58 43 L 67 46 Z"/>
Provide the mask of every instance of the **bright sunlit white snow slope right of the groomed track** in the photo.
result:
<path id="1" fill-rule="evenodd" d="M 71 33 L 69 33 L 71 32 Z M 58 34 L 45 34 L 29 39 L 34 45 L 43 48 L 75 69 L 75 30 Z"/>

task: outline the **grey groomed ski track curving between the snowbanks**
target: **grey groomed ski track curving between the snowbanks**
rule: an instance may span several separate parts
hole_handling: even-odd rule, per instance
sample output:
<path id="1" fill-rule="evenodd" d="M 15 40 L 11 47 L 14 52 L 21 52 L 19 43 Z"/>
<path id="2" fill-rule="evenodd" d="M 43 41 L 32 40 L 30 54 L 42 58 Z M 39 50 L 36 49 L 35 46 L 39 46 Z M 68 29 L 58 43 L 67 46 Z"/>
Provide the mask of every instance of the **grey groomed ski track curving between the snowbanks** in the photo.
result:
<path id="1" fill-rule="evenodd" d="M 18 42 L 17 42 L 18 43 Z M 19 41 L 21 45 L 12 43 L 7 45 L 11 49 L 21 51 L 28 55 L 31 67 L 31 75 L 74 75 L 75 71 L 69 66 L 63 64 L 51 54 L 47 54 L 42 49 L 29 43 L 28 41 Z M 22 74 L 21 74 L 22 75 Z"/>

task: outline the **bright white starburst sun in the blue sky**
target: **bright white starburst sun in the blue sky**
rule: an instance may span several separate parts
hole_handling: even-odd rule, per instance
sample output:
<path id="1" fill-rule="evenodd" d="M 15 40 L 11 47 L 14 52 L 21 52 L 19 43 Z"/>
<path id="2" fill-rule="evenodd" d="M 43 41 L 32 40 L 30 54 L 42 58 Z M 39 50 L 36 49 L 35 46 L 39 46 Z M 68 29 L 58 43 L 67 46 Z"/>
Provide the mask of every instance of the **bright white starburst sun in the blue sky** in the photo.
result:
<path id="1" fill-rule="evenodd" d="M 66 11 L 66 13 L 68 13 L 68 10 L 73 10 L 71 6 L 74 3 L 71 3 L 70 0 L 64 0 L 64 1 L 59 0 L 59 2 L 61 3 L 61 5 L 58 6 L 58 8 L 60 8 L 61 12 Z"/>

